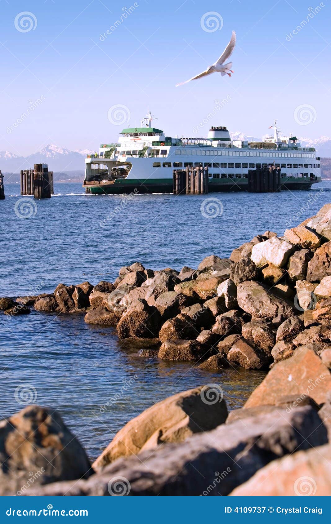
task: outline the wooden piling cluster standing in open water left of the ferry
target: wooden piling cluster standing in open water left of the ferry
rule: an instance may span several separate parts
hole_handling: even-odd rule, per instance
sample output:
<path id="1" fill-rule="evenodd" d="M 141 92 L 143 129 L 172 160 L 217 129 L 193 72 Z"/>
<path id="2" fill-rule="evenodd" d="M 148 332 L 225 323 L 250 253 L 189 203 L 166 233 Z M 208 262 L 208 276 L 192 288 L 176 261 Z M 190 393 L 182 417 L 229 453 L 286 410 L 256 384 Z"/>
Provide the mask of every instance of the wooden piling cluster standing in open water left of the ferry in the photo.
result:
<path id="1" fill-rule="evenodd" d="M 53 171 L 47 164 L 35 164 L 34 169 L 20 172 L 20 194 L 34 195 L 36 199 L 50 198 L 54 194 Z"/>

